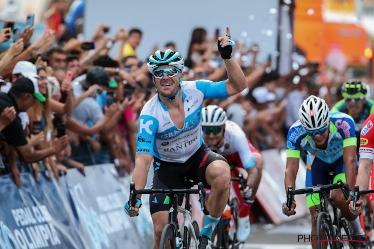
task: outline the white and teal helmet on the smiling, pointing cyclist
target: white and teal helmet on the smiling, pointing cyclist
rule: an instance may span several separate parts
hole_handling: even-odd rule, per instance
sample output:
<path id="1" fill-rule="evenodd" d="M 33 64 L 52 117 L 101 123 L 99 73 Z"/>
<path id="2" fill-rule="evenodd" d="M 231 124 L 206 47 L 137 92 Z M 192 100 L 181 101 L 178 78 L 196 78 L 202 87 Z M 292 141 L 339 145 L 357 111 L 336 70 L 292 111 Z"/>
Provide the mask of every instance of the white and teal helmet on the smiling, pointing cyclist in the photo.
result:
<path id="1" fill-rule="evenodd" d="M 171 49 L 167 49 L 166 51 L 157 50 L 155 54 L 149 57 L 149 62 L 147 63 L 148 70 L 153 74 L 162 65 L 176 67 L 183 72 L 185 59 L 182 58 L 179 52 L 172 51 Z"/>

